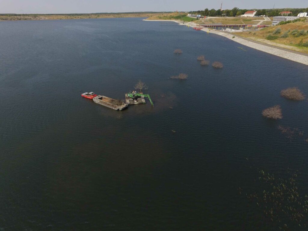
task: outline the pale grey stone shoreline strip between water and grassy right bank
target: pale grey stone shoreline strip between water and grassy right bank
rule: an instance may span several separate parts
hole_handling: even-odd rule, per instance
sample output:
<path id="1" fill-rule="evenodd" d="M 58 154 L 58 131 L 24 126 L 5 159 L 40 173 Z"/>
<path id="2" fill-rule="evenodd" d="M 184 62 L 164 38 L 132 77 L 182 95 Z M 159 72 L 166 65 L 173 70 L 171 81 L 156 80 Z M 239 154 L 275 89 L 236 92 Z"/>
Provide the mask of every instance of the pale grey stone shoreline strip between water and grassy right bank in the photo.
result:
<path id="1" fill-rule="evenodd" d="M 183 22 L 176 21 L 176 20 L 147 20 L 147 19 L 143 19 L 143 21 L 167 21 L 167 22 L 171 21 L 171 22 L 176 22 L 179 25 L 187 26 L 189 24 L 191 27 L 197 26 L 195 23 L 191 23 L 191 24 L 189 22 L 183 23 Z M 274 45 L 269 45 L 269 44 L 261 43 L 261 42 L 255 42 L 251 39 L 240 38 L 239 35 L 236 35 L 236 34 L 233 35 L 233 34 L 225 33 L 225 32 L 220 31 L 220 30 L 214 30 L 214 29 L 210 30 L 210 29 L 207 29 L 207 28 L 203 28 L 201 30 L 204 31 L 204 32 L 209 32 L 211 34 L 217 34 L 217 35 L 223 36 L 223 37 L 230 39 L 230 40 L 232 40 L 236 43 L 240 43 L 241 45 L 256 49 L 258 51 L 263 51 L 263 52 L 266 52 L 266 53 L 271 54 L 271 55 L 276 55 L 276 56 L 284 58 L 284 59 L 289 59 L 289 60 L 297 62 L 297 63 L 302 63 L 302 64 L 305 64 L 305 65 L 308 65 L 308 55 L 306 55 L 305 53 L 300 54 L 300 52 L 288 50 L 286 48 L 281 48 L 281 47 L 277 47 L 277 46 L 274 46 Z M 233 38 L 233 36 L 234 36 L 234 38 Z"/>

